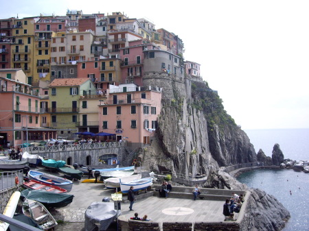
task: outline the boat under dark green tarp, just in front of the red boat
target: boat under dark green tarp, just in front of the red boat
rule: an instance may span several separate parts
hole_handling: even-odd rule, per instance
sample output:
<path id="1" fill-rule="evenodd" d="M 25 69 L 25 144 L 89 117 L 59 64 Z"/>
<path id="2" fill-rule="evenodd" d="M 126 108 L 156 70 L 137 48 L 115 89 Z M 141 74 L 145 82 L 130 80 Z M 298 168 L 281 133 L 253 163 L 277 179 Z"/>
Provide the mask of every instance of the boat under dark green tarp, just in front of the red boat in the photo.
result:
<path id="1" fill-rule="evenodd" d="M 67 193 L 49 193 L 45 191 L 25 189 L 21 192 L 21 197 L 40 202 L 46 207 L 59 208 L 70 204 L 73 201 L 74 196 Z"/>

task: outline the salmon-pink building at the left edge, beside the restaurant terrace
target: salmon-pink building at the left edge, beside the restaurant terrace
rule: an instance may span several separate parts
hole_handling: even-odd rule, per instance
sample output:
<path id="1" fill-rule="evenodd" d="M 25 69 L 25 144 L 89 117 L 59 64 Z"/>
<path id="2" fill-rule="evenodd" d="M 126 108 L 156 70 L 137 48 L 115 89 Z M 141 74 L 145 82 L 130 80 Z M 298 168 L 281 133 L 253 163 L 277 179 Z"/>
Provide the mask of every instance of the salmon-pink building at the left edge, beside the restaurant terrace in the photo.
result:
<path id="1" fill-rule="evenodd" d="M 25 80 L 21 69 L 0 69 L 1 145 L 18 147 L 26 142 L 56 138 L 54 130 L 40 127 L 40 97 Z"/>

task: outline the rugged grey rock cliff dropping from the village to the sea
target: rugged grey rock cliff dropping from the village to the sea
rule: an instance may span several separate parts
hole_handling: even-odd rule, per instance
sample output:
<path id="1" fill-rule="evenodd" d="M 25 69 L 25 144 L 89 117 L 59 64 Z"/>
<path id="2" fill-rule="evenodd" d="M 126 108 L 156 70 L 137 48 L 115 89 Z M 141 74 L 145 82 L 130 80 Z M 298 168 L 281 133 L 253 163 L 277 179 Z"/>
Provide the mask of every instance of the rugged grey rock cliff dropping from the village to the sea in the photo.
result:
<path id="1" fill-rule="evenodd" d="M 252 193 L 248 230 L 281 230 L 290 213 L 275 197 L 249 189 L 220 167 L 256 162 L 247 134 L 236 125 L 207 82 L 176 79 L 168 73 L 144 73 L 144 86 L 163 88 L 157 137 L 140 154 L 146 169 L 185 178 L 207 175 L 204 187 Z"/>

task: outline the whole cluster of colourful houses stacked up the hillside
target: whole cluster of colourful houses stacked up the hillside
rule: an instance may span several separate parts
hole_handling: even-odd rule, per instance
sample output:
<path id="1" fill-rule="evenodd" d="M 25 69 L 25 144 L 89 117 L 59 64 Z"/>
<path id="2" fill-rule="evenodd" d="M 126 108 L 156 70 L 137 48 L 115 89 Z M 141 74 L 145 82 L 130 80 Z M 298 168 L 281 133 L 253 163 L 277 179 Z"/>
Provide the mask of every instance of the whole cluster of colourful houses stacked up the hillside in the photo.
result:
<path id="1" fill-rule="evenodd" d="M 0 145 L 78 132 L 150 144 L 164 87 L 144 78 L 201 82 L 200 64 L 184 51 L 179 36 L 121 12 L 0 19 Z"/>

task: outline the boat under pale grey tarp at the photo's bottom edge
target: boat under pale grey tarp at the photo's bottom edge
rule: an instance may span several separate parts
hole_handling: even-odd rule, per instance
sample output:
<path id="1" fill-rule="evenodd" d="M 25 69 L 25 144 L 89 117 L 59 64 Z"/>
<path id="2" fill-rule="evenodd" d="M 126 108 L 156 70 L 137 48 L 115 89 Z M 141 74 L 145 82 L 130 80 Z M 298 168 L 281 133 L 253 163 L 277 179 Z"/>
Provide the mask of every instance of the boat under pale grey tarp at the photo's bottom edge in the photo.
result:
<path id="1" fill-rule="evenodd" d="M 84 214 L 84 229 L 95 230 L 98 228 L 98 230 L 107 230 L 108 226 L 116 218 L 117 210 L 114 210 L 114 203 L 93 202 Z"/>

